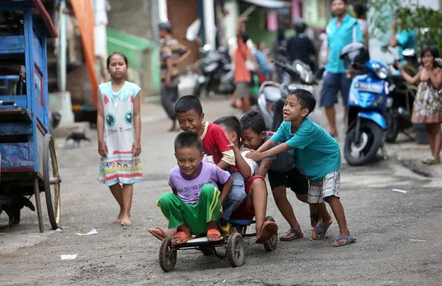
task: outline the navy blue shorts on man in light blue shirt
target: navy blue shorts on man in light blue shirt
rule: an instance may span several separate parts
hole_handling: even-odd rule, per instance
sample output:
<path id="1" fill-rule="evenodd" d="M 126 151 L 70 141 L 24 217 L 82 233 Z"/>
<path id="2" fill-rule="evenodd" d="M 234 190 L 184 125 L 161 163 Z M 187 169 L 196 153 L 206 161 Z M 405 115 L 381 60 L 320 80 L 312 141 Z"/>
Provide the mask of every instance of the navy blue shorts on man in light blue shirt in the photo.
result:
<path id="1" fill-rule="evenodd" d="M 345 73 L 331 73 L 326 71 L 322 81 L 320 93 L 320 106 L 330 107 L 338 103 L 338 91 L 341 91 L 342 105 L 347 106 L 349 102 L 349 91 L 351 78 Z"/>

